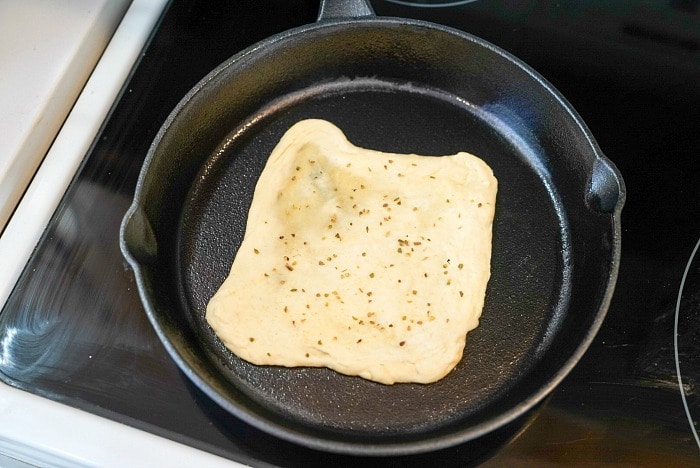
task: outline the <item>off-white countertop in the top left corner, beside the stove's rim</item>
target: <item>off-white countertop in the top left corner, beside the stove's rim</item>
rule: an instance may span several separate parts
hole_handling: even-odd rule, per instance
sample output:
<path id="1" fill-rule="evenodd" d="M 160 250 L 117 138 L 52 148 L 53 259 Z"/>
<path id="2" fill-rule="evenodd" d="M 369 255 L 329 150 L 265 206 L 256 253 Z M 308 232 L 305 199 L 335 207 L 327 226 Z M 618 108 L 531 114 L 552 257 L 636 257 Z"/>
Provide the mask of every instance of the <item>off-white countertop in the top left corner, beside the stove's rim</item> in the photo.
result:
<path id="1" fill-rule="evenodd" d="M 0 230 L 130 3 L 0 1 Z"/>

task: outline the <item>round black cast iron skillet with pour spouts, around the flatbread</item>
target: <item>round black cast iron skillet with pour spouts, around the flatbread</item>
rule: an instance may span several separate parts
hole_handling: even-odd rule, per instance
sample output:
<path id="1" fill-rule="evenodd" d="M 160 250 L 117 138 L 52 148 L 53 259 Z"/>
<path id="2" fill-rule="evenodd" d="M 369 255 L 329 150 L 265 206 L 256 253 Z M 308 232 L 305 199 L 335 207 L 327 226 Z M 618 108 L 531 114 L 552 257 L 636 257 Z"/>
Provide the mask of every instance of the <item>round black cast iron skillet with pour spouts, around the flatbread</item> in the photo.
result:
<path id="1" fill-rule="evenodd" d="M 367 148 L 472 152 L 499 180 L 481 325 L 437 383 L 253 366 L 204 320 L 267 156 L 310 117 Z M 516 58 L 447 27 L 375 17 L 363 0 L 326 1 L 315 24 L 232 57 L 175 108 L 146 158 L 121 248 L 168 352 L 232 416 L 316 449 L 409 454 L 513 421 L 573 368 L 610 302 L 624 198 L 575 111 Z"/>

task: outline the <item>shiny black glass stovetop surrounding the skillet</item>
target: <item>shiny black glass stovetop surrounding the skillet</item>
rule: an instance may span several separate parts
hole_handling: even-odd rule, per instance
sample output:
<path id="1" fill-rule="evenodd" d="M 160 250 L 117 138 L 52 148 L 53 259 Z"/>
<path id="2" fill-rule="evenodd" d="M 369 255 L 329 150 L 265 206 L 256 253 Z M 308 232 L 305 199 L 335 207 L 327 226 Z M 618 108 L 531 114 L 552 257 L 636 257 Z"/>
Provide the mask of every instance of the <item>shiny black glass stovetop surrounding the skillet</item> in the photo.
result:
<path id="1" fill-rule="evenodd" d="M 552 82 L 620 169 L 627 202 L 607 318 L 543 404 L 477 441 L 363 464 L 697 464 L 700 424 L 689 421 L 700 418 L 700 258 L 691 261 L 700 237 L 700 4 L 398 3 L 373 2 L 380 15 L 481 36 Z M 235 52 L 314 21 L 317 7 L 173 2 L 0 312 L 0 379 L 243 463 L 353 461 L 276 440 L 191 385 L 151 328 L 118 244 L 148 146 L 177 102 Z"/>

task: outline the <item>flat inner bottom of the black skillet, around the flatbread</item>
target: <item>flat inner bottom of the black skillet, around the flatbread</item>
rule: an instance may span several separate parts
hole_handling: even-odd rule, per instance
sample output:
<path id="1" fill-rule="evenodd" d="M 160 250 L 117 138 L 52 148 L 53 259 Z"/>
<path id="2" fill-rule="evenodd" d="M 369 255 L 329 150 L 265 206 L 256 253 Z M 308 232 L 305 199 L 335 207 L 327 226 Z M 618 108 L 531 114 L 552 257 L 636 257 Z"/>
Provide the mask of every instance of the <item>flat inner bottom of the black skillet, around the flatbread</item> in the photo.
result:
<path id="1" fill-rule="evenodd" d="M 464 358 L 429 385 L 385 386 L 325 368 L 251 365 L 229 352 L 204 319 L 243 239 L 257 178 L 283 133 L 305 118 L 333 122 L 355 145 L 425 155 L 468 151 L 499 182 L 492 276 L 480 326 Z M 224 380 L 282 420 L 362 440 L 418 440 L 474 413 L 526 378 L 567 313 L 571 265 L 559 194 L 517 134 L 450 95 L 374 79 L 340 80 L 262 109 L 213 152 L 182 211 L 175 269 L 180 301 Z M 260 313 L 251 311 L 251 313 Z M 492 407 L 493 406 L 493 407 Z M 492 408 L 490 408 L 492 407 Z"/>

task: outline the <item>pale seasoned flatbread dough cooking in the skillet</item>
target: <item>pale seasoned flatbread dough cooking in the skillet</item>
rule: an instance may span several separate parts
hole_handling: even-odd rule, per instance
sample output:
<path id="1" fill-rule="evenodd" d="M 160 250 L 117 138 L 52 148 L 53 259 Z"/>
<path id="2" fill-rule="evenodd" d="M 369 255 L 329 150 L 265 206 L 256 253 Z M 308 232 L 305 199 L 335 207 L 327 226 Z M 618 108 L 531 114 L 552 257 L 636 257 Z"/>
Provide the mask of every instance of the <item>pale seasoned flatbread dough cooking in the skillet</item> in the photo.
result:
<path id="1" fill-rule="evenodd" d="M 468 153 L 382 153 L 301 121 L 260 176 L 207 321 L 253 364 L 435 382 L 479 323 L 496 191 Z"/>

